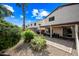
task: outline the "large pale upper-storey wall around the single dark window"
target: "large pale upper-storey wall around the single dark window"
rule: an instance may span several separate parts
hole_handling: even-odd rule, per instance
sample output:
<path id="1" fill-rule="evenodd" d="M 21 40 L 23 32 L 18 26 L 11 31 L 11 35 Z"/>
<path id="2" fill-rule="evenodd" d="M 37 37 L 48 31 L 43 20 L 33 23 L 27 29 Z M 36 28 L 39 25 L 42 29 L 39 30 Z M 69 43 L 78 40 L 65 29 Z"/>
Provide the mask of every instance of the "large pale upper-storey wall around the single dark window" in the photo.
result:
<path id="1" fill-rule="evenodd" d="M 52 16 L 55 17 L 55 20 L 46 23 L 47 25 L 79 22 L 79 4 L 59 8 L 58 10 L 54 11 L 51 15 L 49 15 L 46 19 L 49 20 L 49 18 Z"/>

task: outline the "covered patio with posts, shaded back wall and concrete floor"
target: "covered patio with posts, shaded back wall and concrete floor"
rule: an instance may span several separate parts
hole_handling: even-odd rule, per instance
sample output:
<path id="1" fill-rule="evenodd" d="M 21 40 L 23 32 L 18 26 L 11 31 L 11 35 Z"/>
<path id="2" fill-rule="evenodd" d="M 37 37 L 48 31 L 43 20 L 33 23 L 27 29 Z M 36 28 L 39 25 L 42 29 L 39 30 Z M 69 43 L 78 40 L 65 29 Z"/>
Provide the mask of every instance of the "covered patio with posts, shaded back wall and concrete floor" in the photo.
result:
<path id="1" fill-rule="evenodd" d="M 51 45 L 69 53 L 79 55 L 79 24 L 68 23 L 58 25 L 41 26 L 40 28 L 49 28 L 49 37 L 47 42 Z M 55 34 L 58 36 L 55 37 Z"/>

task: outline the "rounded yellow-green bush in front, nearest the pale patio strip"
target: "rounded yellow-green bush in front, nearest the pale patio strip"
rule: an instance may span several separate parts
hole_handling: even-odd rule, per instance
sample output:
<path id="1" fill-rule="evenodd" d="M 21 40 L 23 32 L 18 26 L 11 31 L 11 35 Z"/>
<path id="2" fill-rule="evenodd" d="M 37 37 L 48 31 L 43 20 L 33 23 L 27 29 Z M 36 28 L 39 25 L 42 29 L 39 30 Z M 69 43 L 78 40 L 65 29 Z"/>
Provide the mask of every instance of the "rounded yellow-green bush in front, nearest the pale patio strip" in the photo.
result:
<path id="1" fill-rule="evenodd" d="M 35 36 L 31 41 L 31 48 L 34 51 L 41 51 L 46 47 L 46 41 L 43 36 Z"/>

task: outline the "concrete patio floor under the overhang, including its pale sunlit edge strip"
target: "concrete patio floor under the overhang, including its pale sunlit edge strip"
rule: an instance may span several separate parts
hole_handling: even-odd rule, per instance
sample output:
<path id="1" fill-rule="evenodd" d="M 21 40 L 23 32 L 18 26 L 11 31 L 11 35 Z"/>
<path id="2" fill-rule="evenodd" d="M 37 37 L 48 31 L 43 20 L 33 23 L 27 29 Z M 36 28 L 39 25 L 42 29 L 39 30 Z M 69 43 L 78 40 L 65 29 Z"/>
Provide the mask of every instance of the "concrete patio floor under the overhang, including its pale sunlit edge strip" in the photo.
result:
<path id="1" fill-rule="evenodd" d="M 77 55 L 75 41 L 68 39 L 50 38 L 45 36 L 47 44 L 54 46 L 62 51 L 70 53 L 71 55 Z"/>

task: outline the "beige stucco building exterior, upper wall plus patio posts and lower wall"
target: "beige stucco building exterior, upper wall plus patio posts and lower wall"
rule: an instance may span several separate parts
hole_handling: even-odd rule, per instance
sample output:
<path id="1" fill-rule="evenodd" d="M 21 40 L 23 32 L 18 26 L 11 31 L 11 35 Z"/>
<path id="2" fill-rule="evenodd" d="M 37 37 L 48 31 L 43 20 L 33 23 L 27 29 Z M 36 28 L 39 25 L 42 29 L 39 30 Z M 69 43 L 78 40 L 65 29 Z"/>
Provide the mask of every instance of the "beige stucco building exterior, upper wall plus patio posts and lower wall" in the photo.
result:
<path id="1" fill-rule="evenodd" d="M 55 17 L 53 21 L 49 21 L 50 17 Z M 37 26 L 31 26 L 31 28 L 40 28 L 40 30 L 46 30 L 47 27 L 50 28 L 50 37 L 53 33 L 57 33 L 63 36 L 63 27 L 70 27 L 72 30 L 72 38 L 75 38 L 76 49 L 79 55 L 79 4 L 67 5 L 60 7 L 44 20 L 36 22 Z M 38 24 L 41 24 L 40 26 Z M 30 27 L 29 27 L 30 28 Z"/>

